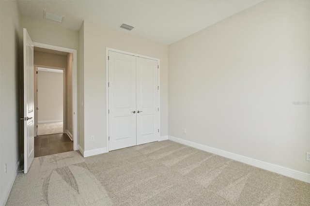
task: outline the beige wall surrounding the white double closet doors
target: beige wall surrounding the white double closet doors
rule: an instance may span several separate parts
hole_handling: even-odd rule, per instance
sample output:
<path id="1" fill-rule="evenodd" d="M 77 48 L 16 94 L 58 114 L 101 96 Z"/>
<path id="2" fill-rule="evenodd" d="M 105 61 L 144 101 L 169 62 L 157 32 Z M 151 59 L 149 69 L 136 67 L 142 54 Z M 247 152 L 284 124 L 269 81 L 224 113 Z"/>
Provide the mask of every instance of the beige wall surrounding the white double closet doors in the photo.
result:
<path id="1" fill-rule="evenodd" d="M 85 151 L 107 146 L 106 47 L 160 59 L 160 135 L 168 134 L 168 46 L 84 21 Z M 95 135 L 95 141 L 91 141 Z"/>

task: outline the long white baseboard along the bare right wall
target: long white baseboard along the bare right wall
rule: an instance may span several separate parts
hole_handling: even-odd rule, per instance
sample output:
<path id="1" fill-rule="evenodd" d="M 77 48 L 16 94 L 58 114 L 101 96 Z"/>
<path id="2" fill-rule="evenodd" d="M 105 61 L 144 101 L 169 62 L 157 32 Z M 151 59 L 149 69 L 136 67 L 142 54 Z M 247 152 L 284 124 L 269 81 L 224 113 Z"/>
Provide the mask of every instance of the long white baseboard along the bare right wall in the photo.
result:
<path id="1" fill-rule="evenodd" d="M 292 177 L 294 179 L 298 179 L 298 180 L 310 183 L 310 174 L 308 174 L 308 173 L 304 173 L 304 172 L 293 170 L 293 169 L 290 169 L 287 167 L 279 166 L 276 164 L 272 164 L 272 163 L 263 162 L 260 160 L 248 158 L 248 157 L 245 157 L 242 155 L 234 154 L 232 152 L 227 152 L 227 151 L 217 149 L 214 147 L 208 147 L 205 145 L 201 145 L 201 144 L 198 144 L 195 142 L 191 142 L 191 141 L 180 139 L 180 138 L 173 137 L 173 136 L 169 136 L 168 139 L 171 141 L 183 144 L 183 145 L 187 145 L 189 147 L 201 149 L 203 151 L 210 152 L 213 154 L 217 154 L 219 156 L 223 156 L 223 157 L 226 157 L 226 158 L 238 161 L 238 162 L 243 162 L 243 163 L 264 169 L 264 170 L 268 170 L 271 172 L 278 173 L 280 175 Z"/>

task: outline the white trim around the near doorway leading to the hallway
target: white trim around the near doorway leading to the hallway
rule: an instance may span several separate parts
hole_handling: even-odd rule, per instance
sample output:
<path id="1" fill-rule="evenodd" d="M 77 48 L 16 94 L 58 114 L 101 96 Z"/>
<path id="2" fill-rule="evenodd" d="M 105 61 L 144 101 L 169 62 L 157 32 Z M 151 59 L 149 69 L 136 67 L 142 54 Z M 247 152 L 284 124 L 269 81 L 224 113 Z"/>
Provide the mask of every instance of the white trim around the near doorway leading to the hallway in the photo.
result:
<path id="1" fill-rule="evenodd" d="M 34 46 L 73 54 L 73 150 L 78 150 L 78 51 L 76 49 L 33 42 Z"/>

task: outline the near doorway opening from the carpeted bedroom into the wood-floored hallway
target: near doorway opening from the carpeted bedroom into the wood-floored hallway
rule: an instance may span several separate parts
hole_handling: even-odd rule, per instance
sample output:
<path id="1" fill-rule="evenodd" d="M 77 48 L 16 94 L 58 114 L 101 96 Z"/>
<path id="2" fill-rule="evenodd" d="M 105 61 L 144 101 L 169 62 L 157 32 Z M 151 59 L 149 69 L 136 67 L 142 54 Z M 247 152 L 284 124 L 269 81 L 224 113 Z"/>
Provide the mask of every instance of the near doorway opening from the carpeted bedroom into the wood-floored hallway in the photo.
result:
<path id="1" fill-rule="evenodd" d="M 74 150 L 73 55 L 34 46 L 34 157 Z"/>

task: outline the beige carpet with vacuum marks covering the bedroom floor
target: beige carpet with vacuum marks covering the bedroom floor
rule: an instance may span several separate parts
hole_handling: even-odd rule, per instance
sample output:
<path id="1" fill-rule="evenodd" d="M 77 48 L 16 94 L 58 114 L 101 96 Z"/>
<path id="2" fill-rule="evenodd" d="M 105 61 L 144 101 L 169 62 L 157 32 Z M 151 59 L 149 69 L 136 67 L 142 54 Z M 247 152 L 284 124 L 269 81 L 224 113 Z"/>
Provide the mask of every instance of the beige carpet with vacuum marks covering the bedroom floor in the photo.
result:
<path id="1" fill-rule="evenodd" d="M 35 158 L 7 206 L 310 205 L 310 184 L 172 141 Z"/>

